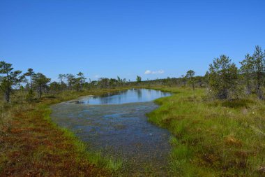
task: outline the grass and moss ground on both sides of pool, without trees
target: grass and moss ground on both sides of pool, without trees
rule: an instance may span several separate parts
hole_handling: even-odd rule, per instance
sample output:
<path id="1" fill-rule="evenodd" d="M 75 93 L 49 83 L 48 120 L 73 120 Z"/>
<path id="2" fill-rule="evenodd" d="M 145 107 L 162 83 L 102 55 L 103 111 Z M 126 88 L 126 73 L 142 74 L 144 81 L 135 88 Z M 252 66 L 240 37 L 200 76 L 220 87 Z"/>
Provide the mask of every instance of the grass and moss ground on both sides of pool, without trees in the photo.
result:
<path id="1" fill-rule="evenodd" d="M 170 176 L 264 176 L 259 169 L 265 167 L 265 101 L 213 101 L 205 89 L 193 97 L 185 87 L 152 88 L 174 93 L 157 99 L 160 107 L 148 114 L 172 132 Z M 13 95 L 12 104 L 1 102 L 0 176 L 128 175 L 121 160 L 89 152 L 73 132 L 50 119 L 51 104 L 119 90 L 62 92 L 32 104 Z"/>

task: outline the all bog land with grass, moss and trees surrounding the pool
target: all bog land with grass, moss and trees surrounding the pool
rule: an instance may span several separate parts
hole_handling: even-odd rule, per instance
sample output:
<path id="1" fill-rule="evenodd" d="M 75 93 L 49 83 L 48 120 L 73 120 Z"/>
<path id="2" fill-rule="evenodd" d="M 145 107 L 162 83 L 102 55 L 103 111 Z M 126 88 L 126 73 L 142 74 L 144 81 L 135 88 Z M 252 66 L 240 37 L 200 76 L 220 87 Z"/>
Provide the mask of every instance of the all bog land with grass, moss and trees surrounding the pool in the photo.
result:
<path id="1" fill-rule="evenodd" d="M 264 176 L 264 59 L 257 46 L 240 69 L 221 55 L 205 76 L 190 70 L 182 78 L 88 82 L 79 72 L 52 83 L 43 73 L 22 74 L 0 62 L 0 176 L 119 176 L 122 162 L 89 153 L 72 132 L 54 125 L 49 106 L 130 87 L 175 93 L 156 100 L 160 108 L 148 114 L 173 134 L 170 176 Z"/>

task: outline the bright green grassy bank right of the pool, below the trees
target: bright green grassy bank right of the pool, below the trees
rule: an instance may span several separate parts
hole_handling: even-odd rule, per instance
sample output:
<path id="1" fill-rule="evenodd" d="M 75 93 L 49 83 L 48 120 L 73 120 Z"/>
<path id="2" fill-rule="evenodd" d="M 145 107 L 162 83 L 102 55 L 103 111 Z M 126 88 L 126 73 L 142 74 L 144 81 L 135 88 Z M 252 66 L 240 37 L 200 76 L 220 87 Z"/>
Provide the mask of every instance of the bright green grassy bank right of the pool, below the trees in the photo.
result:
<path id="1" fill-rule="evenodd" d="M 149 120 L 172 132 L 174 176 L 264 176 L 265 102 L 254 98 L 208 101 L 204 89 L 154 87 L 173 92 L 156 100 Z"/>

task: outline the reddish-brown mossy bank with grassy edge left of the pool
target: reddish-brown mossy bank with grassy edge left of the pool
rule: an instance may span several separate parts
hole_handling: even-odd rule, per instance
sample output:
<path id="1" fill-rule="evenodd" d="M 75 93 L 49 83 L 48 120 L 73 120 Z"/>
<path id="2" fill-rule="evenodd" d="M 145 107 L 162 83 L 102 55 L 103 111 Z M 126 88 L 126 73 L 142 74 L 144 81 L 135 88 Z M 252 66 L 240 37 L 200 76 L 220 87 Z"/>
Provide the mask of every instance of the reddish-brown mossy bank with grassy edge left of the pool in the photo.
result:
<path id="1" fill-rule="evenodd" d="M 50 120 L 49 108 L 51 104 L 84 95 L 119 90 L 122 89 L 62 92 L 46 95 L 31 104 L 16 94 L 13 103 L 1 103 L 0 176 L 111 176 L 119 173 L 122 162 L 87 151 L 86 145 L 72 132 Z"/>

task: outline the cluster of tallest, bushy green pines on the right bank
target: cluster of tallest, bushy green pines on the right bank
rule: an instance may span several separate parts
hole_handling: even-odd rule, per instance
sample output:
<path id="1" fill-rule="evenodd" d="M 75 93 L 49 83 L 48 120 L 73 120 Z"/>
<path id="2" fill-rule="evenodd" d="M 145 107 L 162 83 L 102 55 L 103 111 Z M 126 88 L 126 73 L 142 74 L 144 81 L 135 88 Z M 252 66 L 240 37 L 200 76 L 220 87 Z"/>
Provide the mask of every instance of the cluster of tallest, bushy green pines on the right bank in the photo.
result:
<path id="1" fill-rule="evenodd" d="M 214 59 L 205 76 L 209 91 L 218 99 L 236 99 L 250 94 L 264 99 L 265 51 L 257 45 L 253 54 L 245 55 L 240 64 L 238 69 L 226 55 Z"/>

